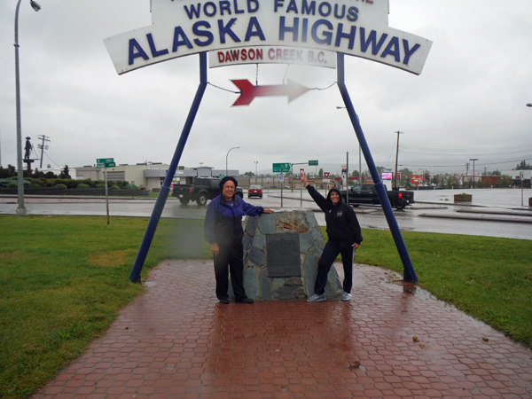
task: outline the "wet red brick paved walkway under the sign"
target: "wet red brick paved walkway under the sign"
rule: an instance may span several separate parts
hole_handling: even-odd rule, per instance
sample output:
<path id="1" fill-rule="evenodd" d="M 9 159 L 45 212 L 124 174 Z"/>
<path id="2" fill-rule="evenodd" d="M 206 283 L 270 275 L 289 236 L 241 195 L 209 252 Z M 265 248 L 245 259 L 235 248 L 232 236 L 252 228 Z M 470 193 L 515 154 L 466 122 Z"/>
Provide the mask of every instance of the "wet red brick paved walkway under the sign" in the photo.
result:
<path id="1" fill-rule="evenodd" d="M 211 262 L 163 262 L 34 397 L 532 397 L 531 351 L 394 278 L 356 265 L 350 302 L 221 305 Z"/>

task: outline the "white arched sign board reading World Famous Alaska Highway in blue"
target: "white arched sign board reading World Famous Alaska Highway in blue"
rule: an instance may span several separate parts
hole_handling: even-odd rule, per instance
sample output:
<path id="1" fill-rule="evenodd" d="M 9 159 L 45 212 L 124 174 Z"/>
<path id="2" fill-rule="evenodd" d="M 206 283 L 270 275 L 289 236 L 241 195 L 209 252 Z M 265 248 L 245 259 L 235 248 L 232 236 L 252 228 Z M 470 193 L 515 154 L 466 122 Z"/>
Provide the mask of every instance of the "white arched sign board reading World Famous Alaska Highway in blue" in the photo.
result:
<path id="1" fill-rule="evenodd" d="M 343 52 L 420 74 L 432 42 L 388 27 L 387 17 L 387 0 L 152 0 L 152 25 L 105 43 L 118 74 L 255 46 Z"/>

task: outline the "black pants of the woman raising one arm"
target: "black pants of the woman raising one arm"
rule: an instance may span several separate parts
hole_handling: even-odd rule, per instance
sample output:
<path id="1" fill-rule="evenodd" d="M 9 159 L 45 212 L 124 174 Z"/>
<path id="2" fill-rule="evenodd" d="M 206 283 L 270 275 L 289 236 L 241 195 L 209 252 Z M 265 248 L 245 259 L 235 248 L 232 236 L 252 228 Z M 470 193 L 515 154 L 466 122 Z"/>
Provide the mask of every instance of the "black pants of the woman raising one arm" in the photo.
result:
<path id="1" fill-rule="evenodd" d="M 329 274 L 332 263 L 338 254 L 341 254 L 341 262 L 344 267 L 343 290 L 346 293 L 351 293 L 351 288 L 353 287 L 353 258 L 355 257 L 355 251 L 353 250 L 353 246 L 349 243 L 332 240 L 327 241 L 324 252 L 317 262 L 317 278 L 316 283 L 314 284 L 314 293 L 317 293 L 318 295 L 325 293 L 327 275 Z"/>

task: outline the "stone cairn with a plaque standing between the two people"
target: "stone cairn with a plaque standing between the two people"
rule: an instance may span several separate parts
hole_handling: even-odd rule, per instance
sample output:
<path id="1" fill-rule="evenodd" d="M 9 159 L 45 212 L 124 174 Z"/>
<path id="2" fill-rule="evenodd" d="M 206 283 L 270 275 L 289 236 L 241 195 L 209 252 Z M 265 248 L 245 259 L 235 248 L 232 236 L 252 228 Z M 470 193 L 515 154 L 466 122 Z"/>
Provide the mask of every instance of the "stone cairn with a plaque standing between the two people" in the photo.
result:
<path id="1" fill-rule="evenodd" d="M 273 239 L 283 239 L 278 235 L 290 233 L 299 237 L 299 273 L 293 272 L 292 276 L 280 278 L 268 277 L 268 260 L 273 256 L 268 255 L 269 241 L 271 243 Z M 312 211 L 284 210 L 273 214 L 248 216 L 244 224 L 243 245 L 244 288 L 249 298 L 257 301 L 295 301 L 305 300 L 314 293 L 317 262 L 325 242 Z M 270 244 L 270 251 L 272 249 L 273 245 Z M 295 268 L 297 269 L 297 266 Z M 334 267 L 331 268 L 327 279 L 327 299 L 339 300 L 343 290 Z"/>

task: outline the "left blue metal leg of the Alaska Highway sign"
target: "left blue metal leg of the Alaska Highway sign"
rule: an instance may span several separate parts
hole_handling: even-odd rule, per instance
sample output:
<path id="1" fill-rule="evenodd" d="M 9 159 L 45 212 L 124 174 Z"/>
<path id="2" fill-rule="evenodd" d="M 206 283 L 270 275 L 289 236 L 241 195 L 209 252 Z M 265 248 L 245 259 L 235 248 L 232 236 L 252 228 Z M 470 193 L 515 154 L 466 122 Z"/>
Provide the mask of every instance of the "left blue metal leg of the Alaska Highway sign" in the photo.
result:
<path id="1" fill-rule="evenodd" d="M 150 217 L 150 222 L 148 222 L 148 227 L 146 228 L 144 239 L 142 239 L 142 243 L 140 244 L 140 248 L 138 249 L 137 259 L 133 264 L 133 270 L 131 270 L 131 274 L 129 275 L 129 280 L 131 280 L 133 283 L 140 283 L 140 272 L 142 271 L 142 268 L 144 266 L 148 250 L 152 245 L 153 235 L 155 234 L 155 230 L 157 230 L 160 215 L 162 214 L 162 210 L 164 209 L 164 205 L 166 204 L 168 193 L 170 192 L 170 187 L 172 186 L 172 180 L 174 178 L 174 175 L 176 174 L 177 165 L 179 164 L 179 160 L 181 160 L 184 145 L 186 144 L 186 140 L 189 136 L 189 133 L 191 132 L 192 123 L 196 118 L 196 114 L 198 113 L 198 109 L 200 108 L 201 98 L 203 98 L 203 93 L 205 93 L 206 88 L 207 52 L 201 52 L 200 85 L 198 87 L 198 90 L 196 91 L 196 97 L 192 102 L 191 110 L 189 111 L 186 122 L 184 123 L 181 138 L 179 138 L 179 143 L 177 143 L 176 153 L 174 153 L 174 158 L 172 158 L 172 162 L 170 163 L 170 167 L 168 168 L 168 174 L 164 179 L 162 186 L 160 187 L 160 192 L 157 196 L 155 207 L 153 207 L 152 216 Z"/>

